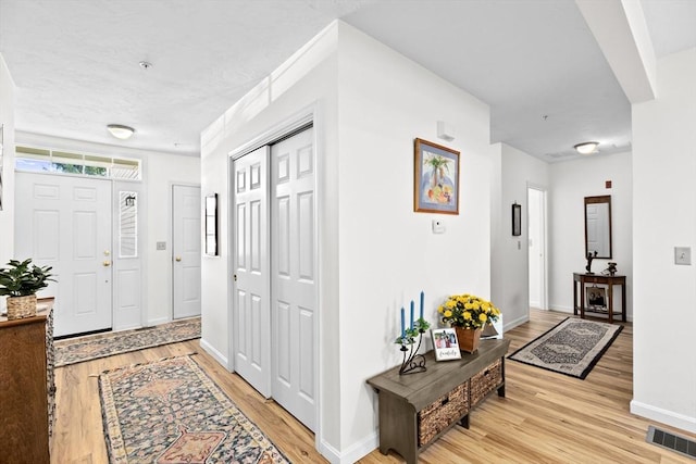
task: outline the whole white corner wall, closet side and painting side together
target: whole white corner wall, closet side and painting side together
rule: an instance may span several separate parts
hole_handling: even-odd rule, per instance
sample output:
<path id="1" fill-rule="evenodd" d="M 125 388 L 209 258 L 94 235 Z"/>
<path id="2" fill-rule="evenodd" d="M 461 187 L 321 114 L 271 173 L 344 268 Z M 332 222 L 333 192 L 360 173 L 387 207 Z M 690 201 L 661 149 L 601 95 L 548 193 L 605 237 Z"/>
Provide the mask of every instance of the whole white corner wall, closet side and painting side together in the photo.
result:
<path id="1" fill-rule="evenodd" d="M 399 312 L 425 291 L 425 317 L 447 294 L 489 298 L 487 105 L 372 38 L 334 23 L 203 134 L 202 183 L 221 193 L 223 254 L 203 262 L 203 347 L 228 329 L 227 153 L 308 106 L 318 127 L 320 214 L 319 449 L 353 462 L 377 446 L 377 400 L 365 379 L 400 362 Z M 398 76 L 398 78 L 395 78 Z M 413 139 L 461 151 L 460 214 L 413 212 Z M 222 174 L 224 173 L 224 175 Z M 446 234 L 433 235 L 433 218 Z M 359 342 L 357 342 L 359 340 Z M 223 360 L 226 361 L 226 360 Z"/>

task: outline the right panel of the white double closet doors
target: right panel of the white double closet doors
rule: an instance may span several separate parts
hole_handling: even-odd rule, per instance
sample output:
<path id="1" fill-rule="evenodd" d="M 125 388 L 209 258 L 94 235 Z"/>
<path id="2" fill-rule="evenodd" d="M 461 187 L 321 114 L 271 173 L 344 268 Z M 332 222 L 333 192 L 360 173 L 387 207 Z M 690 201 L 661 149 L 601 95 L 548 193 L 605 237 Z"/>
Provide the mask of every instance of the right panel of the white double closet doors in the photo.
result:
<path id="1" fill-rule="evenodd" d="M 314 430 L 316 324 L 313 128 L 271 148 L 273 398 Z"/>

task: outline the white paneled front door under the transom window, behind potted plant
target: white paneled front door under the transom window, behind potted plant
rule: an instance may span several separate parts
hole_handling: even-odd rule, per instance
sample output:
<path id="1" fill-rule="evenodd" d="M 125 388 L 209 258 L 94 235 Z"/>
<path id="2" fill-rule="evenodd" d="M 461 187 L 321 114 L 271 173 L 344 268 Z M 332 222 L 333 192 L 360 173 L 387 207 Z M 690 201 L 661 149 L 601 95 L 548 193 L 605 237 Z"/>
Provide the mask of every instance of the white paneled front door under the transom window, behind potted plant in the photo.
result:
<path id="1" fill-rule="evenodd" d="M 53 266 L 54 335 L 111 328 L 111 181 L 16 174 L 15 256 Z"/>

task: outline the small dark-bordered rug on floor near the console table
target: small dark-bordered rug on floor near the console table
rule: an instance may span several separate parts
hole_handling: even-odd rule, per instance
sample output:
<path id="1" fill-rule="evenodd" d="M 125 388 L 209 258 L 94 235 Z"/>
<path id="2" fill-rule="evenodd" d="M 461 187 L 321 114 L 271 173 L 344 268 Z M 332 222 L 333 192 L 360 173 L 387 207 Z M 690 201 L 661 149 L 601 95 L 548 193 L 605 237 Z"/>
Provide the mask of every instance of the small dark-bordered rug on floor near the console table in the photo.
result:
<path id="1" fill-rule="evenodd" d="M 569 317 L 508 359 L 584 379 L 622 329 Z"/>

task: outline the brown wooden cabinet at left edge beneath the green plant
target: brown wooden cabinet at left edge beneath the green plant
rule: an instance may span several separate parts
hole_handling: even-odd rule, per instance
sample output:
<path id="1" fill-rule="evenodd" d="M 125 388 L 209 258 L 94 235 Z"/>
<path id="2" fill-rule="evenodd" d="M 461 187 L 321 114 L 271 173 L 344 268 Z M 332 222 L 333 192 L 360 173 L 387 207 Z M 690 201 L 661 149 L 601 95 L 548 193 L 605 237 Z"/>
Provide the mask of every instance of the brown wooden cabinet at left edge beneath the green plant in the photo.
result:
<path id="1" fill-rule="evenodd" d="M 0 461 L 49 463 L 55 386 L 52 309 L 0 319 Z"/>

